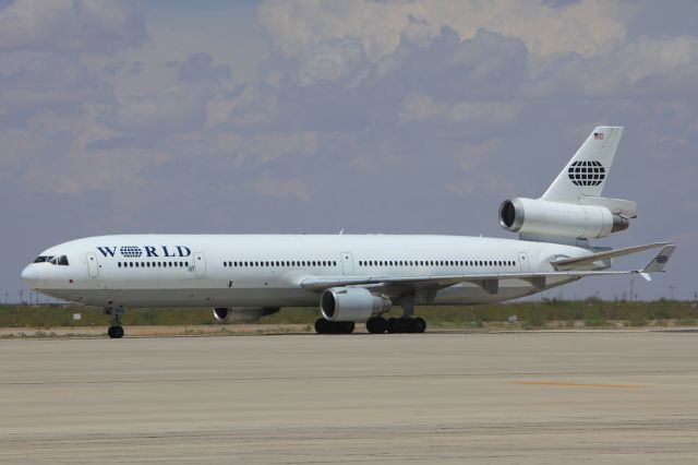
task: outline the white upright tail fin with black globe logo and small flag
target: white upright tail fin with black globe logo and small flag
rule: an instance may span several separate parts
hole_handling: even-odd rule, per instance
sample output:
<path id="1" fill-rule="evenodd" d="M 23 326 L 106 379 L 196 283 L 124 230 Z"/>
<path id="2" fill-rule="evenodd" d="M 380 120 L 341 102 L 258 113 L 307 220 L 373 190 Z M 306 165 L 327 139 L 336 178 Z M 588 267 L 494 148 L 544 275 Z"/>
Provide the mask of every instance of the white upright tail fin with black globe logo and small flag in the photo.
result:
<path id="1" fill-rule="evenodd" d="M 601 196 L 621 136 L 622 127 L 595 128 L 541 199 L 580 204 Z"/>

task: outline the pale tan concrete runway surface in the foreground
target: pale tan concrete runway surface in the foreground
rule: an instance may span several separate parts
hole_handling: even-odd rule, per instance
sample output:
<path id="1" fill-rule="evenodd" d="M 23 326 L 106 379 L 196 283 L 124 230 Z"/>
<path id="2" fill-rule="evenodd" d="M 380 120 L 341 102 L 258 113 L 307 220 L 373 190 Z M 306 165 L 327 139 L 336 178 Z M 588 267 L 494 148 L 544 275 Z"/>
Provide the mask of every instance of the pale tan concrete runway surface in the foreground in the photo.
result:
<path id="1" fill-rule="evenodd" d="M 603 331 L 0 341 L 0 463 L 695 464 L 697 348 Z"/>

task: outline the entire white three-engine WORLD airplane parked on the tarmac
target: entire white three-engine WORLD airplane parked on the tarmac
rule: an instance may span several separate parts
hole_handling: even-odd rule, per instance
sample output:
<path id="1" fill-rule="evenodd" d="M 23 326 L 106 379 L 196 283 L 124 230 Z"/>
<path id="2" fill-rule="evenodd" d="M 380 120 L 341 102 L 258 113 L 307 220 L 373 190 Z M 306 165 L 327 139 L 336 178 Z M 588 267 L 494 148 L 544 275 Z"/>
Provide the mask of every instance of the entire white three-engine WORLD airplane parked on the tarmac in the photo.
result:
<path id="1" fill-rule="evenodd" d="M 127 308 L 213 307 L 218 322 L 320 305 L 317 333 L 420 333 L 414 305 L 488 303 L 586 276 L 662 272 L 675 246 L 591 247 L 628 227 L 636 203 L 601 196 L 623 134 L 599 127 L 540 199 L 512 199 L 500 224 L 519 239 L 417 235 L 122 235 L 51 247 L 22 272 L 45 295 L 101 307 L 123 336 Z M 642 270 L 611 259 L 652 248 Z M 392 306 L 402 318 L 386 320 Z"/>

